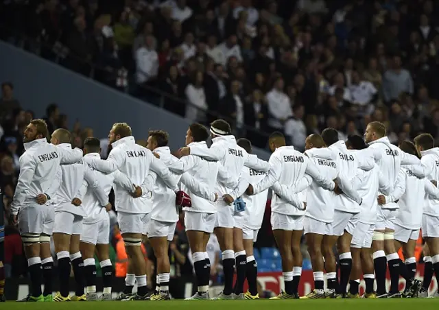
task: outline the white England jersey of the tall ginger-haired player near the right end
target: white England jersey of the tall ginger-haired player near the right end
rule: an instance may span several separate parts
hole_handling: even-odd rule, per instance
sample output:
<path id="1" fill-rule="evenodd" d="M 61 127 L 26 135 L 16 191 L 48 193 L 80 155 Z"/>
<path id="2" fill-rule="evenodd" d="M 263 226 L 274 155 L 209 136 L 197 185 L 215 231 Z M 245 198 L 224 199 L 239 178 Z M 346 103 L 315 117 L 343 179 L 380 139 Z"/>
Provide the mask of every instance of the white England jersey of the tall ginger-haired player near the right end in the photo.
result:
<path id="1" fill-rule="evenodd" d="M 401 151 L 396 145 L 392 145 L 387 136 L 370 142 L 367 150 L 372 152 L 375 158 L 375 163 L 377 163 L 384 177 L 388 180 L 391 187 L 390 192 L 392 192 L 393 187 L 395 186 L 396 177 L 399 174 L 401 165 L 420 164 L 419 158 Z M 394 202 L 390 202 L 381 207 L 394 209 L 399 206 Z"/>

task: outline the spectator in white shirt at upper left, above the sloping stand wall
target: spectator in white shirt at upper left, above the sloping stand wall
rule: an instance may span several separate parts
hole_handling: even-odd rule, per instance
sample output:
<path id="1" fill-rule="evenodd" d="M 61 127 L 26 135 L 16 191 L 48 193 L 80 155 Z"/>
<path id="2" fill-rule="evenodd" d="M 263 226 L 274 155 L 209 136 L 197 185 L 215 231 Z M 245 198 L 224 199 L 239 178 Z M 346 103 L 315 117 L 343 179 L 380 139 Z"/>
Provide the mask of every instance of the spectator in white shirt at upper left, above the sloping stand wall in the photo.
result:
<path id="1" fill-rule="evenodd" d="M 136 60 L 136 82 L 143 84 L 150 82 L 158 74 L 158 54 L 154 49 L 154 37 L 145 36 L 145 45 L 137 49 L 134 55 Z"/>

